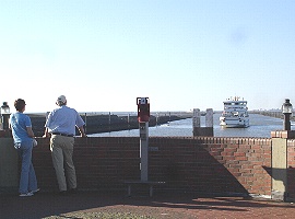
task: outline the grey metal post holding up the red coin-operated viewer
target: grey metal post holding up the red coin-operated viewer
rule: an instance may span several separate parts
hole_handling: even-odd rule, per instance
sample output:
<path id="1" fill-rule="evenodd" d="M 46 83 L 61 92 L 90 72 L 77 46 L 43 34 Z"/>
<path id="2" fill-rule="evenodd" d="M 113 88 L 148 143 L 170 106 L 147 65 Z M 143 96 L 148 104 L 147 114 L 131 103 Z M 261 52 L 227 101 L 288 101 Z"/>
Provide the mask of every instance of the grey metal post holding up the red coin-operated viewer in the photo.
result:
<path id="1" fill-rule="evenodd" d="M 140 123 L 140 173 L 141 181 L 148 181 L 149 122 Z"/>

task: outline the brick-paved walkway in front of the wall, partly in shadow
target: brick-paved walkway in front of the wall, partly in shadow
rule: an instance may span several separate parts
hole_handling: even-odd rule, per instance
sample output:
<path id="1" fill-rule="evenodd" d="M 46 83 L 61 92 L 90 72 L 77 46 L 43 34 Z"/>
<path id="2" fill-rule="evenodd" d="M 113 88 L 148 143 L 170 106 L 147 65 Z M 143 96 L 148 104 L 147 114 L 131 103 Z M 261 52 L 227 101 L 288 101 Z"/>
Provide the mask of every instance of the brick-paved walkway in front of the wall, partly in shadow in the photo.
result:
<path id="1" fill-rule="evenodd" d="M 162 194 L 150 198 L 93 192 L 59 196 L 40 192 L 32 197 L 0 194 L 0 218 L 295 218 L 295 204 L 188 194 Z"/>

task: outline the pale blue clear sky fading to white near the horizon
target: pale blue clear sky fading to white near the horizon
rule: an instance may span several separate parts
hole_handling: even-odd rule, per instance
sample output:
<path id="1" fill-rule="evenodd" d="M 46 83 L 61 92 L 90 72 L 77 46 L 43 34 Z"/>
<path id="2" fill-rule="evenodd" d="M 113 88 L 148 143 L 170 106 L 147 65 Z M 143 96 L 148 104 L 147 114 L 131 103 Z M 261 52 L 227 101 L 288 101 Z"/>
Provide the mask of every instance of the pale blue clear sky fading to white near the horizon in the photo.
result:
<path id="1" fill-rule="evenodd" d="M 48 112 L 295 105 L 294 0 L 0 0 L 0 102 Z"/>

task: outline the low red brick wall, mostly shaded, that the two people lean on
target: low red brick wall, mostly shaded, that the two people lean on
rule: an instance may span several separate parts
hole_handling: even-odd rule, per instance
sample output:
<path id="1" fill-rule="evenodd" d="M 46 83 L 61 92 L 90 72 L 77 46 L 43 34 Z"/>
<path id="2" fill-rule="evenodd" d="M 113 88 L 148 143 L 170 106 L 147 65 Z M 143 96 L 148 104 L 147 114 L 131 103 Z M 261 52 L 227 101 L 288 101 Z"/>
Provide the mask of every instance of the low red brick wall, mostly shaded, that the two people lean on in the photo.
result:
<path id="1" fill-rule="evenodd" d="M 139 142 L 135 137 L 78 138 L 79 187 L 125 189 L 122 181 L 140 180 Z M 166 182 L 166 189 L 271 195 L 271 139 L 151 137 L 149 146 L 149 180 Z M 38 139 L 33 163 L 39 186 L 57 189 L 49 139 Z"/>

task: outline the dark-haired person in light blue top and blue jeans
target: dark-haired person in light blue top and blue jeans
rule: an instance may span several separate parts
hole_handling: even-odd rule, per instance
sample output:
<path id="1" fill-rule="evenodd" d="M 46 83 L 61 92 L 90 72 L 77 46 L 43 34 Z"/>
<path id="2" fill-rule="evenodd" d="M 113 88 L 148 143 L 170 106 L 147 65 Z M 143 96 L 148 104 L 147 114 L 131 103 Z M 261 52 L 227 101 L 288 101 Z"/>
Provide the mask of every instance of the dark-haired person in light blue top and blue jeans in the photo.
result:
<path id="1" fill-rule="evenodd" d="M 34 132 L 32 130 L 31 118 L 23 114 L 25 101 L 17 99 L 14 102 L 16 113 L 10 115 L 9 126 L 12 129 L 14 147 L 22 159 L 22 171 L 20 178 L 20 196 L 32 196 L 38 192 L 37 178 L 32 164 L 32 150 Z"/>

